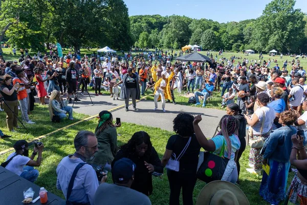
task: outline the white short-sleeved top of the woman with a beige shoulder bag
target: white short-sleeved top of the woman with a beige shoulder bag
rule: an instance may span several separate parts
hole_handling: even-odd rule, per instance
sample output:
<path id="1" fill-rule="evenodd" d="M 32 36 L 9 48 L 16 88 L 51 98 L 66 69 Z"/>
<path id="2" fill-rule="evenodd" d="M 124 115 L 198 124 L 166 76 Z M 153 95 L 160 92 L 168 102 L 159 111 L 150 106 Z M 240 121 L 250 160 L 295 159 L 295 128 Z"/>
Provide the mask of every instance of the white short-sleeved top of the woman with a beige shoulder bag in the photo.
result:
<path id="1" fill-rule="evenodd" d="M 257 115 L 259 121 L 256 123 L 256 125 L 254 125 L 253 128 L 253 134 L 255 135 L 260 135 L 260 130 L 261 130 L 261 125 L 262 125 L 262 119 L 264 117 L 264 113 L 265 113 L 265 123 L 264 123 L 264 127 L 262 130 L 262 134 L 265 134 L 267 132 L 270 131 L 274 119 L 275 119 L 275 110 L 274 108 L 265 106 L 265 107 L 261 107 L 259 109 L 257 109 L 253 115 Z M 253 116 L 252 116 L 253 117 Z"/>

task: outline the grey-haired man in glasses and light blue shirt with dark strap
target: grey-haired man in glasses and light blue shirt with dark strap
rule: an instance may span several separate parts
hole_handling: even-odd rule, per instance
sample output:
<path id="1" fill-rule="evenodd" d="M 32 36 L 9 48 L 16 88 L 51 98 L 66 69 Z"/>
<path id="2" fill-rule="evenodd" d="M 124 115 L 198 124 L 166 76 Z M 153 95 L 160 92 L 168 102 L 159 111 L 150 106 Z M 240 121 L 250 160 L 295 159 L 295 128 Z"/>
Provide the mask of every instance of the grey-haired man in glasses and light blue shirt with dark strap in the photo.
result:
<path id="1" fill-rule="evenodd" d="M 86 160 L 91 160 L 98 151 L 97 138 L 90 131 L 80 131 L 74 139 L 74 146 L 76 152 L 64 157 L 56 169 L 56 187 L 62 190 L 67 201 L 94 204 L 99 183 L 95 170 Z M 101 174 L 101 182 L 105 182 L 107 177 L 104 173 Z"/>

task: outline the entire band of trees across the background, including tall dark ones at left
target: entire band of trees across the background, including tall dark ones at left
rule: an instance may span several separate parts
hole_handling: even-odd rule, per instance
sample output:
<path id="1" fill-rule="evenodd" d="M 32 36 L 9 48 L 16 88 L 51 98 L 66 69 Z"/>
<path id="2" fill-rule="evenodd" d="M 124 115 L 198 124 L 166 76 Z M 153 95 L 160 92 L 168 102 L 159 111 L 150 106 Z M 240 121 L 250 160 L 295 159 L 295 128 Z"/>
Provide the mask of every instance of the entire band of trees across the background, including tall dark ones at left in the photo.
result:
<path id="1" fill-rule="evenodd" d="M 1 0 L 0 42 L 35 51 L 59 42 L 75 50 L 196 44 L 203 50 L 307 53 L 307 15 L 294 5 L 273 0 L 256 19 L 218 23 L 179 15 L 129 17 L 123 0 Z"/>

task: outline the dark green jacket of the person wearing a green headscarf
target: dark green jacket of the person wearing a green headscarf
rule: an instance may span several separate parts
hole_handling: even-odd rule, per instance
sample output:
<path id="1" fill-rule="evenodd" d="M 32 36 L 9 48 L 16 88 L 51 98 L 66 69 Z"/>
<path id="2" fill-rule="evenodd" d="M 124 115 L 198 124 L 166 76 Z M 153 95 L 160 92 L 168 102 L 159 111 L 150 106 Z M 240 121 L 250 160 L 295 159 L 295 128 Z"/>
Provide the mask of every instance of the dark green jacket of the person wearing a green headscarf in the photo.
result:
<path id="1" fill-rule="evenodd" d="M 114 156 L 117 153 L 117 131 L 116 127 L 107 126 L 97 135 L 98 152 L 95 153 L 90 163 L 104 166 L 106 162 L 111 165 Z"/>

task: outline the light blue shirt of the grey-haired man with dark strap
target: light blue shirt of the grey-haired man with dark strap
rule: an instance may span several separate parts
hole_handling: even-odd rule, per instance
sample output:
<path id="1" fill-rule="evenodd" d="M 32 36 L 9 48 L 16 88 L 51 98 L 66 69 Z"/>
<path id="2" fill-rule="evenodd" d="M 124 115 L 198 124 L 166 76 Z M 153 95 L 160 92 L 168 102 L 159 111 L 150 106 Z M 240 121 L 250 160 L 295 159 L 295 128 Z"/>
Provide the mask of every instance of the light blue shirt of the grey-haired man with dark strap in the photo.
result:
<path id="1" fill-rule="evenodd" d="M 80 158 L 71 159 L 69 156 L 64 157 L 56 168 L 56 188 L 62 190 L 65 198 L 67 197 L 68 185 L 75 168 L 79 163 L 84 162 Z M 91 165 L 83 165 L 76 175 L 69 200 L 94 204 L 94 196 L 98 186 L 97 175 L 93 167 Z"/>

